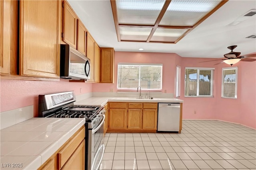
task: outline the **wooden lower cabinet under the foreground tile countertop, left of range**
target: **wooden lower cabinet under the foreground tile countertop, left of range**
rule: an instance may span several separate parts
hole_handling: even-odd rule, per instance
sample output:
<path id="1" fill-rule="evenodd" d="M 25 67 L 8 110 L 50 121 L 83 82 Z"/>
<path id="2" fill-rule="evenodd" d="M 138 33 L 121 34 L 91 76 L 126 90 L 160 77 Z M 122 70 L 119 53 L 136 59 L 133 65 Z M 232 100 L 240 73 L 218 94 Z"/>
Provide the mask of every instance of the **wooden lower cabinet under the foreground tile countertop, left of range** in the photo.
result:
<path id="1" fill-rule="evenodd" d="M 84 170 L 85 127 L 80 128 L 38 170 Z"/>

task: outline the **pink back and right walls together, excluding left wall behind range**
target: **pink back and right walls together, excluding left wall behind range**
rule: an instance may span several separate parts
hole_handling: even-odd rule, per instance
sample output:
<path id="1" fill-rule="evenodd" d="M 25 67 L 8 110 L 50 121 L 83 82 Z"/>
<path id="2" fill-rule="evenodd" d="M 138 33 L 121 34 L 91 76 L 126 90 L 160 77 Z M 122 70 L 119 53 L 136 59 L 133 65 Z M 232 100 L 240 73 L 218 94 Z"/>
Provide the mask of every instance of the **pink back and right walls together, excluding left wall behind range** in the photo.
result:
<path id="1" fill-rule="evenodd" d="M 234 123 L 241 123 L 256 129 L 256 76 L 255 62 L 239 62 L 238 66 L 238 98 L 221 98 L 222 67 L 230 67 L 219 61 L 199 63 L 214 59 L 186 58 L 174 53 L 134 53 L 115 52 L 114 84 L 93 84 L 93 92 L 117 91 L 117 64 L 118 63 L 163 63 L 162 92 L 174 93 L 176 65 L 181 66 L 181 100 L 183 104 L 183 119 L 220 119 Z M 185 67 L 211 67 L 214 70 L 213 98 L 184 97 Z M 194 112 L 196 111 L 196 114 Z"/>

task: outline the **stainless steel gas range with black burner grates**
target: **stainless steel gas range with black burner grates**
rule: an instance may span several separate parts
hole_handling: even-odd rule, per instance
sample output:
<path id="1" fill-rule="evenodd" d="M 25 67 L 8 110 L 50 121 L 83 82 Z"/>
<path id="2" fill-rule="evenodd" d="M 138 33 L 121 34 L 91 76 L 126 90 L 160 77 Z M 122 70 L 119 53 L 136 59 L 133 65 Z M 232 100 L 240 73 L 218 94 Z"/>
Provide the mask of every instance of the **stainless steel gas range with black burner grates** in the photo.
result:
<path id="1" fill-rule="evenodd" d="M 104 107 L 74 105 L 74 91 L 39 95 L 38 116 L 85 118 L 85 170 L 98 170 L 104 153 Z"/>

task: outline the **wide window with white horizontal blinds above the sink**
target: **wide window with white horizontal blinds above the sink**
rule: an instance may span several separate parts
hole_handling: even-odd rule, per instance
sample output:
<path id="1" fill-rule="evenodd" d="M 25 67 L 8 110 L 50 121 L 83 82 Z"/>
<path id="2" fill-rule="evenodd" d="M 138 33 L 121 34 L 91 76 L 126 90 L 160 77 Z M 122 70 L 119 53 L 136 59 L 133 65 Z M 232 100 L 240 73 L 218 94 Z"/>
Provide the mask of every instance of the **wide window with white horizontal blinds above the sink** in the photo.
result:
<path id="1" fill-rule="evenodd" d="M 117 88 L 162 90 L 162 64 L 118 64 Z"/>

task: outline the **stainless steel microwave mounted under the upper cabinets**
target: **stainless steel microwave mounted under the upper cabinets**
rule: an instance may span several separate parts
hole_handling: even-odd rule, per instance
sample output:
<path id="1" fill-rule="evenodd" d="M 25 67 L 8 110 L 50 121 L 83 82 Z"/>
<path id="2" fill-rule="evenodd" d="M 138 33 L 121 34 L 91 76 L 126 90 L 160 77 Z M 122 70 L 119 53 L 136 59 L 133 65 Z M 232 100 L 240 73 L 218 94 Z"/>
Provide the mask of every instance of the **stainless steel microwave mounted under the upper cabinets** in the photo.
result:
<path id="1" fill-rule="evenodd" d="M 60 45 L 60 78 L 90 79 L 90 59 L 68 44 Z"/>

